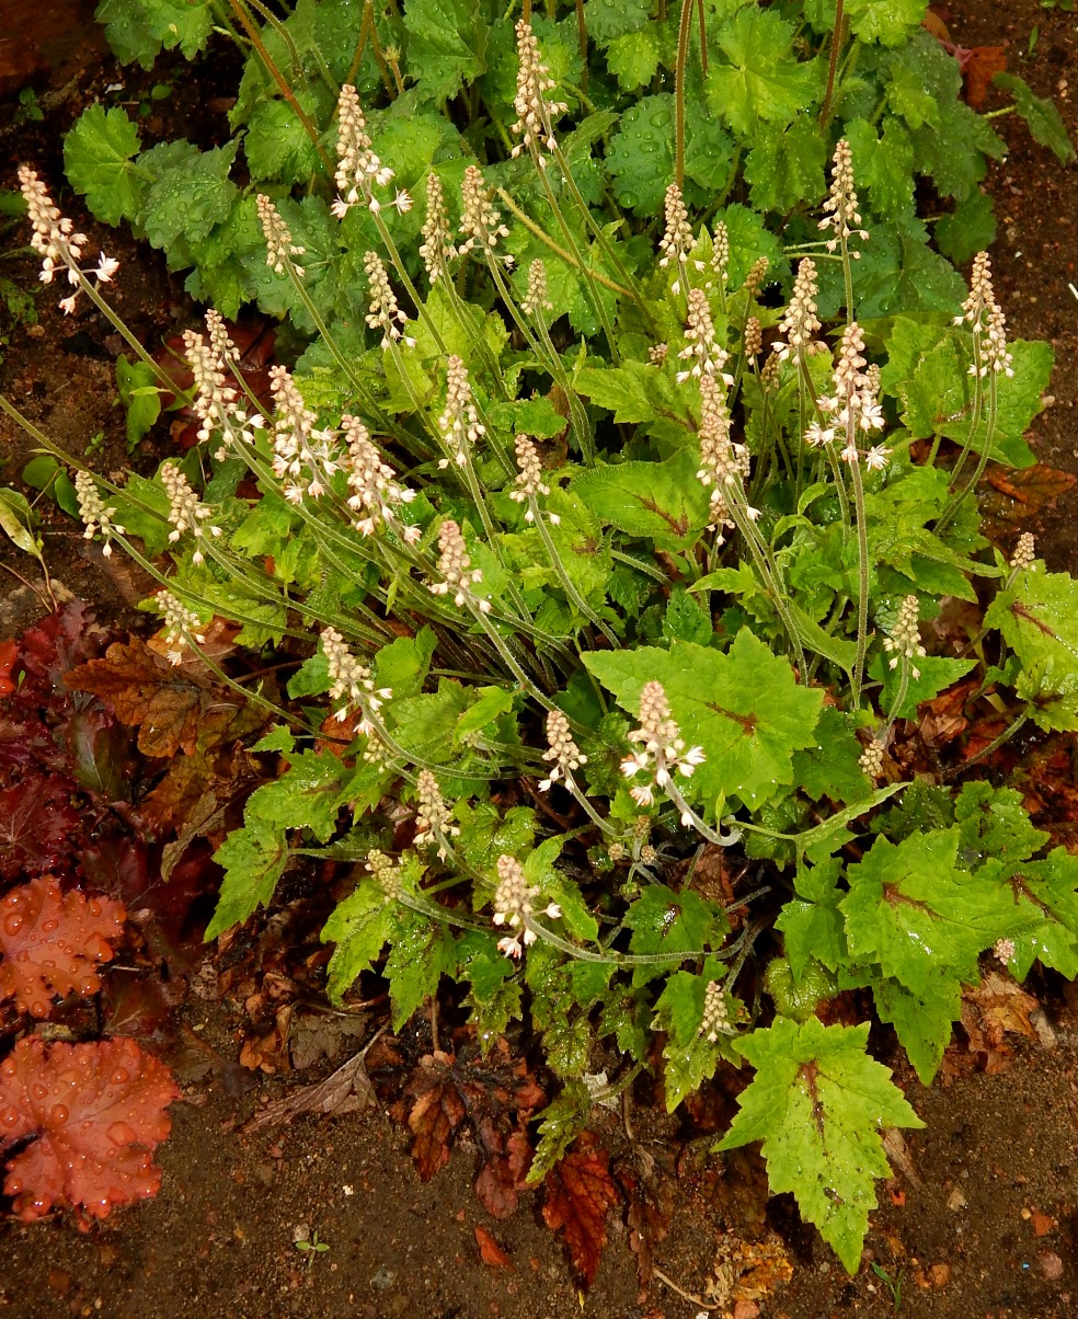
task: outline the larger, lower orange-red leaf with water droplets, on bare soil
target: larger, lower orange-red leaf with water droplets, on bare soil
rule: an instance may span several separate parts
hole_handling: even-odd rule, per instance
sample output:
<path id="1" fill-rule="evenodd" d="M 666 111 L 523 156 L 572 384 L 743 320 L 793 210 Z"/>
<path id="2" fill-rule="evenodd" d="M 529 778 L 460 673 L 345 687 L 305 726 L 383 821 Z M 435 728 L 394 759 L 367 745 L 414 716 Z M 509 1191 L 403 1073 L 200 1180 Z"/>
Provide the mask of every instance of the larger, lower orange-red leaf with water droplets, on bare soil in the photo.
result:
<path id="1" fill-rule="evenodd" d="M 36 1137 L 7 1163 L 4 1194 L 24 1221 L 54 1206 L 79 1227 L 156 1195 L 153 1150 L 179 1088 L 133 1039 L 45 1045 L 21 1039 L 0 1063 L 0 1146 Z"/>

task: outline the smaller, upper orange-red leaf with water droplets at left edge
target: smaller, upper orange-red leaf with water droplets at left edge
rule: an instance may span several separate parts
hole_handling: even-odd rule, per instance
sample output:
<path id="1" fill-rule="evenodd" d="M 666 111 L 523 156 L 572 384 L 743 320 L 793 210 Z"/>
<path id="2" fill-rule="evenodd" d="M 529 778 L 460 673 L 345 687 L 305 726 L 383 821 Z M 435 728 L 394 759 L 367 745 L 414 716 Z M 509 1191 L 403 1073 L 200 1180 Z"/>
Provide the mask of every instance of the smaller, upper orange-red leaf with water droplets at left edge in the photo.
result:
<path id="1" fill-rule="evenodd" d="M 125 919 L 119 902 L 63 893 L 51 876 L 12 889 L 0 902 L 0 1002 L 41 1018 L 54 997 L 96 993 Z"/>

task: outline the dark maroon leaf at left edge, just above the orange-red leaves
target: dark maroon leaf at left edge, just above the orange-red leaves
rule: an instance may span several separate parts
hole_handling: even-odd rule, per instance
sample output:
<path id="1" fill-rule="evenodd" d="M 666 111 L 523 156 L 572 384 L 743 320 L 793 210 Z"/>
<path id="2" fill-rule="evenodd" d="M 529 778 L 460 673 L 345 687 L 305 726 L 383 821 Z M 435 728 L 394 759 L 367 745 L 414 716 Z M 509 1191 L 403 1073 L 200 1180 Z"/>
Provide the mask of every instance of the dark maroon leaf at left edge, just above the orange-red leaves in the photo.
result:
<path id="1" fill-rule="evenodd" d="M 77 860 L 80 813 L 73 785 L 58 774 L 30 774 L 0 789 L 0 877 L 66 871 Z"/>

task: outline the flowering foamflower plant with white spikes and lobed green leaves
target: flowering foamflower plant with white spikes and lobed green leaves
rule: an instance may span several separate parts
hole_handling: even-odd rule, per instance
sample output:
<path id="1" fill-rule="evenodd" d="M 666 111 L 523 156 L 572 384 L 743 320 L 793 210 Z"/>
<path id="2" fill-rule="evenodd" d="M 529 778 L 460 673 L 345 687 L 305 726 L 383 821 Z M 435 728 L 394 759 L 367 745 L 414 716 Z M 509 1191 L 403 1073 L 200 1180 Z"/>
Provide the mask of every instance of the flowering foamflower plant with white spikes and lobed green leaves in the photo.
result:
<path id="1" fill-rule="evenodd" d="M 1078 863 L 1042 855 L 1017 794 L 947 789 L 943 768 L 909 787 L 892 754 L 917 704 L 980 665 L 980 637 L 946 648 L 925 627 L 978 578 L 1005 650 L 982 677 L 1013 707 L 983 754 L 1029 719 L 1078 725 L 1078 591 L 1025 539 L 994 555 L 972 497 L 988 456 L 1032 460 L 1050 353 L 1007 342 L 984 259 L 961 314 L 941 294 L 870 334 L 858 272 L 887 235 L 846 138 L 792 249 L 736 207 L 694 228 L 669 178 L 654 245 L 624 243 L 557 123 L 573 92 L 532 29 L 515 41 L 512 179 L 458 158 L 416 181 L 376 149 L 362 79 L 335 92 L 343 236 L 315 248 L 310 207 L 253 200 L 264 302 L 311 339 L 272 368 L 274 415 L 210 313 L 185 338 L 201 450 L 128 488 L 79 472 L 87 530 L 160 582 L 174 661 L 214 615 L 303 660 L 256 747 L 286 768 L 218 852 L 210 936 L 333 842 L 360 863 L 323 931 L 334 998 L 377 964 L 400 1028 L 450 976 L 491 1039 L 526 987 L 566 1082 L 604 1049 L 645 1064 L 661 1031 L 670 1109 L 748 1058 L 722 1148 L 763 1140 L 772 1184 L 852 1269 L 880 1128 L 917 1119 L 867 1024 L 825 1028 L 815 1002 L 871 993 L 928 1080 L 980 954 L 1078 973 Z M 383 203 L 391 177 L 421 183 L 410 228 L 405 194 Z M 541 203 L 495 198 L 499 177 Z M 344 278 L 321 256 L 355 235 Z M 790 257 L 775 309 L 764 281 Z M 751 876 L 736 919 L 695 878 L 705 855 Z M 764 1028 L 767 927 L 784 951 Z M 557 1103 L 536 1175 L 587 1115 L 585 1087 Z"/>

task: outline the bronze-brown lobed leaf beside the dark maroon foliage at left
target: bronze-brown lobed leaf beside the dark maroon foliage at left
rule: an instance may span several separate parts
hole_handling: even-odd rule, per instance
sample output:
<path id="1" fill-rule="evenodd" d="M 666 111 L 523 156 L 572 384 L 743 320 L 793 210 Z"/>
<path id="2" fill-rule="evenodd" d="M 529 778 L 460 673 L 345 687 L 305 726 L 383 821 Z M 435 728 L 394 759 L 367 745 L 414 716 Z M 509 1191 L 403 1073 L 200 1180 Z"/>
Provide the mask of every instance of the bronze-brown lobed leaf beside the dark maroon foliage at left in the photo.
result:
<path id="1" fill-rule="evenodd" d="M 177 669 L 133 637 L 113 642 L 103 660 L 90 660 L 67 674 L 73 691 L 92 691 L 139 729 L 144 756 L 172 757 L 178 751 L 218 745 L 244 708 L 185 669 Z"/>

